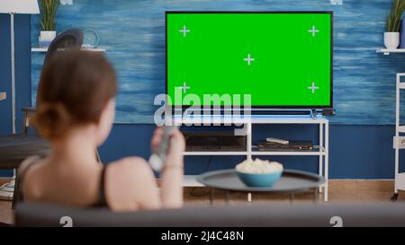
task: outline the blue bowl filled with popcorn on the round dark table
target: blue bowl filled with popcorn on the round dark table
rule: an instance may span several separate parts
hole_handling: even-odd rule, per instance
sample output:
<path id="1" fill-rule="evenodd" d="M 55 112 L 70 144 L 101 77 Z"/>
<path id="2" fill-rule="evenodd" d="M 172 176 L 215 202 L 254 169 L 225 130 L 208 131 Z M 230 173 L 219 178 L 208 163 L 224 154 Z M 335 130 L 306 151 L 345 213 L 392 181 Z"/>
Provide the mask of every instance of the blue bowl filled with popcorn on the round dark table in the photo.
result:
<path id="1" fill-rule="evenodd" d="M 270 188 L 282 176 L 283 165 L 280 162 L 269 162 L 257 158 L 240 162 L 235 170 L 238 178 L 248 187 Z"/>

